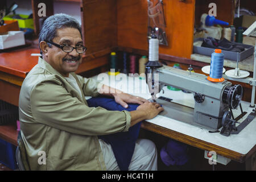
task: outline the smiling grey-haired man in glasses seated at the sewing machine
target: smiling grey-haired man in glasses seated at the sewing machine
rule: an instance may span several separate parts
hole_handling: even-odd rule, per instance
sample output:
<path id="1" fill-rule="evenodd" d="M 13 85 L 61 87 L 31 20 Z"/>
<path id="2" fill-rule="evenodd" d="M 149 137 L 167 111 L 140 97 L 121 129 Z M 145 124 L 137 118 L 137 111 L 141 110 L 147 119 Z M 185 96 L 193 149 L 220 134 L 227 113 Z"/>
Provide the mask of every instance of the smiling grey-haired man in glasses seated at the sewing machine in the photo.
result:
<path id="1" fill-rule="evenodd" d="M 76 75 L 86 47 L 80 24 L 71 16 L 49 16 L 40 31 L 39 46 L 42 57 L 24 79 L 19 97 L 18 142 L 25 168 L 118 170 L 111 146 L 97 136 L 129 131 L 129 127 L 154 118 L 163 108 Z M 85 96 L 99 94 L 113 97 L 123 107 L 127 103 L 139 106 L 134 111 L 89 107 Z M 138 139 L 129 170 L 156 169 L 154 143 Z"/>

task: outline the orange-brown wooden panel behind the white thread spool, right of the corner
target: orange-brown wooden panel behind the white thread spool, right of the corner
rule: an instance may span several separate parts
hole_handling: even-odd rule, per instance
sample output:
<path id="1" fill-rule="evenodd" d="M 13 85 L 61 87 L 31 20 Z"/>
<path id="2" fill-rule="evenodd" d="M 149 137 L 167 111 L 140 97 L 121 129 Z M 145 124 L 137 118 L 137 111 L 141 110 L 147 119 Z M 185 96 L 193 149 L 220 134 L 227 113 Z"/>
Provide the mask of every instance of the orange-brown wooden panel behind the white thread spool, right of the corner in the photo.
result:
<path id="1" fill-rule="evenodd" d="M 159 53 L 190 58 L 193 42 L 195 0 L 164 2 L 168 46 L 159 46 Z M 117 1 L 117 44 L 148 51 L 147 1 Z"/>

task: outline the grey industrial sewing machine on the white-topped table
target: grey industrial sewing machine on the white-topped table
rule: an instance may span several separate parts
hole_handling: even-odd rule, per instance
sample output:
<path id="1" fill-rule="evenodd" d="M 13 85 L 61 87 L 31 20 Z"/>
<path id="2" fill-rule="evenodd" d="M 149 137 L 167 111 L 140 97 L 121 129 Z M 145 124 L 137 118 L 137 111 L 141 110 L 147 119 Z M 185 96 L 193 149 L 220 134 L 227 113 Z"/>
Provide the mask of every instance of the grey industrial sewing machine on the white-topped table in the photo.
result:
<path id="1" fill-rule="evenodd" d="M 152 48 L 150 48 L 151 51 Z M 153 51 L 154 52 L 154 51 Z M 207 76 L 195 72 L 183 71 L 162 65 L 158 56 L 149 54 L 146 64 L 147 85 L 151 93 L 151 101 L 163 105 L 164 111 L 160 115 L 196 125 L 210 132 L 219 132 L 229 136 L 238 134 L 255 117 L 255 112 L 242 123 L 238 122 L 246 112 L 243 112 L 240 104 L 243 94 L 242 86 L 232 85 L 231 82 L 212 82 Z M 164 85 L 174 86 L 193 93 L 195 99 L 194 108 L 172 102 L 172 98 L 156 97 Z M 233 109 L 240 106 L 241 114 L 234 118 Z M 236 126 L 236 123 L 240 125 Z"/>

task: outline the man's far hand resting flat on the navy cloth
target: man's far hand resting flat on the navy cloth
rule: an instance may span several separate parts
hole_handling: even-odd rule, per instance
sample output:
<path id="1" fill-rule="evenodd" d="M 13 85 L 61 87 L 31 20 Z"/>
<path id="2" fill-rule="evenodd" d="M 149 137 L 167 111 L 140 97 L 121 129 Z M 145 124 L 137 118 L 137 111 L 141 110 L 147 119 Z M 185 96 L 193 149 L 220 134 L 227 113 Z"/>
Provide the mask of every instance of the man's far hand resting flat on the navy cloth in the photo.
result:
<path id="1" fill-rule="evenodd" d="M 132 95 L 127 94 L 127 93 L 114 94 L 114 98 L 115 98 L 115 102 L 117 102 L 118 104 L 120 104 L 121 106 L 123 106 L 125 108 L 128 107 L 127 103 L 140 104 L 141 105 L 145 102 L 149 102 L 148 100 L 146 100 L 142 97 L 132 96 Z"/>

